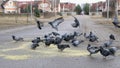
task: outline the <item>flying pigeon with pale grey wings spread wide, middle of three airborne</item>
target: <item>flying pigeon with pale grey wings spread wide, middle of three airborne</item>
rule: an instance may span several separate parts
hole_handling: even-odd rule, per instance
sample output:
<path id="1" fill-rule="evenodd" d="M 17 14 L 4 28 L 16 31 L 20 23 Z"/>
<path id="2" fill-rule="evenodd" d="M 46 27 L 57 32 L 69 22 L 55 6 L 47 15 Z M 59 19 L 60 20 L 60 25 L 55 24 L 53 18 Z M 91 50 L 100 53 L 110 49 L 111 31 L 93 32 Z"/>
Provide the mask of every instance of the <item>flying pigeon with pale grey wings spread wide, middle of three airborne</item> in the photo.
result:
<path id="1" fill-rule="evenodd" d="M 64 22 L 64 19 L 63 17 L 60 17 L 60 18 L 55 19 L 52 22 L 49 22 L 49 24 L 52 26 L 52 28 L 58 31 L 58 25 L 62 22 Z"/>

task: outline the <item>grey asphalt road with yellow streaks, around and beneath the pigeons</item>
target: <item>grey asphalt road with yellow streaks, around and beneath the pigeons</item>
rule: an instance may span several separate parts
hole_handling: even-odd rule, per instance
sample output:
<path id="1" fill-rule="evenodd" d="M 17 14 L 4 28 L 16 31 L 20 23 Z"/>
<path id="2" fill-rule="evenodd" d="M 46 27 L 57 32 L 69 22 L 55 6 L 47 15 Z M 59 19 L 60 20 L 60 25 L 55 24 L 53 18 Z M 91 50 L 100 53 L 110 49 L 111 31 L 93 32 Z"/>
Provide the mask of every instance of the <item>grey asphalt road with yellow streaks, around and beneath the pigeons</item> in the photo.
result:
<path id="1" fill-rule="evenodd" d="M 109 29 L 111 26 L 99 25 L 94 23 L 88 16 L 76 16 L 80 21 L 80 28 L 72 28 L 74 18 L 65 18 L 65 21 L 59 25 L 60 34 L 72 33 L 73 31 L 89 33 L 93 31 L 99 37 L 99 43 L 91 43 L 92 45 L 102 45 L 109 38 L 112 33 L 116 37 L 116 41 L 113 46 L 119 46 L 120 36 L 119 33 Z M 113 27 L 114 28 L 114 27 Z M 36 50 L 31 50 L 31 40 L 35 37 L 43 37 L 44 34 L 48 34 L 52 31 L 56 31 L 51 28 L 47 23 L 42 30 L 39 30 L 36 25 L 8 29 L 0 31 L 0 68 L 119 68 L 120 67 L 120 53 L 119 50 L 116 53 L 116 57 L 109 56 L 107 59 L 103 59 L 99 53 L 96 55 L 88 56 L 89 53 L 86 50 L 87 44 L 90 43 L 87 40 L 80 44 L 77 48 L 71 46 L 71 48 L 65 49 L 63 52 L 59 52 L 56 46 L 51 45 L 45 47 L 43 43 L 40 43 L 40 47 Z M 25 41 L 14 42 L 11 35 L 23 37 Z M 84 39 L 83 37 L 79 37 Z"/>

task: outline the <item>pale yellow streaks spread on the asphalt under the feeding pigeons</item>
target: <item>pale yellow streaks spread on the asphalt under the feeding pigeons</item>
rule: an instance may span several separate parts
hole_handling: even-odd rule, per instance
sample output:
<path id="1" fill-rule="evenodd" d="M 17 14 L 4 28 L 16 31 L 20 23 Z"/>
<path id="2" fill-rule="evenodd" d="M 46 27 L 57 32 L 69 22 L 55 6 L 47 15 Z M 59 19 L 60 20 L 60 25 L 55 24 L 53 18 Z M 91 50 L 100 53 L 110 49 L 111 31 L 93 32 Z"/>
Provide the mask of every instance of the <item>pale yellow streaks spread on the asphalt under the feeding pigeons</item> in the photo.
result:
<path id="1" fill-rule="evenodd" d="M 54 56 L 74 57 L 74 56 L 89 55 L 87 50 L 78 50 L 78 49 L 72 49 L 72 48 L 66 48 L 63 52 L 59 52 L 56 45 L 45 47 L 43 46 L 43 44 L 41 44 L 36 50 L 31 50 L 30 45 L 31 45 L 30 42 L 25 42 L 25 43 L 19 44 L 19 46 L 16 48 L 2 49 L 0 50 L 0 52 L 2 53 L 0 54 L 0 57 L 4 59 L 9 59 L 9 60 L 26 60 L 26 59 L 35 58 L 35 57 L 38 57 L 38 58 L 39 57 L 54 57 Z M 20 49 L 26 50 L 24 55 L 23 54 L 10 55 L 7 53 L 10 51 L 18 51 L 18 50 L 20 51 Z"/>

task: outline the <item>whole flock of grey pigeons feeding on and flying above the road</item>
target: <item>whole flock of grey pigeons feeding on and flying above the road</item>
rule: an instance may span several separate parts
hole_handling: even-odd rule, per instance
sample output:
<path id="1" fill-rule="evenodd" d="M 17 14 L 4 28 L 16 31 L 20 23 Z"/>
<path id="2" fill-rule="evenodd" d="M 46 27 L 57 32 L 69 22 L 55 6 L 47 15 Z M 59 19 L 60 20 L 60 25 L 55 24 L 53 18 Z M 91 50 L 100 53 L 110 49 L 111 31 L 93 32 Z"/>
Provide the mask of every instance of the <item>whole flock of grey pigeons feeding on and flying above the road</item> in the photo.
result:
<path id="1" fill-rule="evenodd" d="M 74 17 L 74 16 L 73 16 Z M 74 17 L 74 22 L 72 25 L 73 28 L 80 27 L 80 23 L 76 17 Z M 55 30 L 58 31 L 58 26 L 60 23 L 64 21 L 63 17 L 57 18 L 52 22 L 49 22 L 49 25 Z M 43 26 L 41 26 L 40 21 L 36 21 L 38 28 L 41 30 Z M 81 43 L 83 43 L 85 40 L 78 40 L 79 36 L 83 36 L 85 39 L 87 39 L 89 42 L 99 42 L 98 37 L 93 34 L 91 31 L 88 35 L 86 33 L 79 33 L 74 31 L 73 33 L 65 33 L 63 35 L 57 33 L 57 32 L 51 32 L 49 34 L 44 35 L 43 39 L 40 37 L 36 37 L 31 42 L 31 49 L 35 50 L 37 47 L 39 47 L 39 43 L 43 42 L 45 43 L 46 47 L 49 47 L 51 44 L 54 44 L 57 46 L 58 50 L 63 51 L 66 48 L 70 48 L 70 44 L 74 47 L 78 47 Z M 12 36 L 12 39 L 14 41 L 24 41 L 23 38 L 17 38 L 14 35 Z M 114 42 L 115 37 L 113 34 L 109 36 L 109 40 L 107 42 L 104 42 L 102 46 L 92 46 L 91 44 L 88 44 L 87 51 L 92 54 L 97 54 L 100 52 L 101 55 L 103 55 L 105 58 L 109 55 L 114 56 L 117 48 L 112 46 L 112 43 Z M 65 43 L 63 43 L 65 42 Z"/>

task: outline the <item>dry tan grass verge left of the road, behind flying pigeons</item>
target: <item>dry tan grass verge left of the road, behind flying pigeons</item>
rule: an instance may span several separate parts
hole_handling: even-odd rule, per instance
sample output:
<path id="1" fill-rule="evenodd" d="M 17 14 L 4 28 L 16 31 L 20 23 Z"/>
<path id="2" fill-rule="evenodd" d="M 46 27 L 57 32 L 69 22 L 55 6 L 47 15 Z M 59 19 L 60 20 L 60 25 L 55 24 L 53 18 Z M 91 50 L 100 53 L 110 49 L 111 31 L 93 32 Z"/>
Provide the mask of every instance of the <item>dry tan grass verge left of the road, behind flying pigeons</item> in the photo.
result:
<path id="1" fill-rule="evenodd" d="M 58 17 L 60 16 L 56 15 L 55 17 L 37 18 L 37 19 L 43 23 L 48 23 Z M 68 18 L 68 16 L 64 16 L 64 18 Z M 0 30 L 6 30 L 6 29 L 21 27 L 21 26 L 28 26 L 28 25 L 36 25 L 35 19 L 31 19 L 31 17 L 27 18 L 25 16 L 21 16 L 21 17 L 0 16 Z"/>

